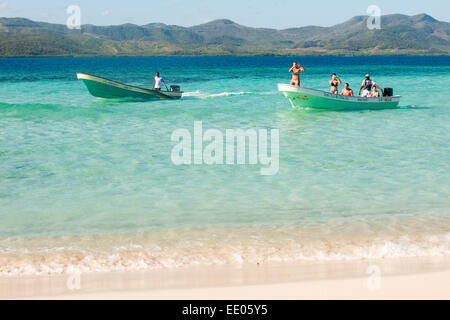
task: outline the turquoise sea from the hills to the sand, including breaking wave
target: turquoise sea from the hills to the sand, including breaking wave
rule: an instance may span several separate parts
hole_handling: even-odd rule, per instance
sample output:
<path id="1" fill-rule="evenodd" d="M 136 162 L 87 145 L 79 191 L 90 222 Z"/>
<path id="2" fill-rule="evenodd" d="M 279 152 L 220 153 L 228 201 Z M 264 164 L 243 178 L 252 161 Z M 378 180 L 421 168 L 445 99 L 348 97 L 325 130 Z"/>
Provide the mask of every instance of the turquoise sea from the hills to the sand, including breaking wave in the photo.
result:
<path id="1" fill-rule="evenodd" d="M 293 110 L 370 72 L 397 110 Z M 85 72 L 181 101 L 97 99 Z M 0 274 L 450 255 L 450 57 L 0 59 Z M 175 166 L 171 134 L 280 130 L 280 169 Z"/>

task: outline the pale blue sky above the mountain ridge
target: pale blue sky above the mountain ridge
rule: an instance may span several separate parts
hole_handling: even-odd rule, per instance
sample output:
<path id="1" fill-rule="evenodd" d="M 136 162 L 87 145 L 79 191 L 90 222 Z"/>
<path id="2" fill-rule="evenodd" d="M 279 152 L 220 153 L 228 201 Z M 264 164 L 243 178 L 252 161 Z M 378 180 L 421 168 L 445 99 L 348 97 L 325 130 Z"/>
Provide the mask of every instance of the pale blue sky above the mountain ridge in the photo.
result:
<path id="1" fill-rule="evenodd" d="M 227 18 L 247 26 L 277 29 L 331 26 L 365 15 L 369 5 L 378 5 L 382 14 L 428 13 L 450 21 L 449 0 L 0 0 L 0 16 L 65 23 L 66 9 L 72 4 L 80 6 L 82 24 L 96 25 L 163 22 L 192 26 Z"/>

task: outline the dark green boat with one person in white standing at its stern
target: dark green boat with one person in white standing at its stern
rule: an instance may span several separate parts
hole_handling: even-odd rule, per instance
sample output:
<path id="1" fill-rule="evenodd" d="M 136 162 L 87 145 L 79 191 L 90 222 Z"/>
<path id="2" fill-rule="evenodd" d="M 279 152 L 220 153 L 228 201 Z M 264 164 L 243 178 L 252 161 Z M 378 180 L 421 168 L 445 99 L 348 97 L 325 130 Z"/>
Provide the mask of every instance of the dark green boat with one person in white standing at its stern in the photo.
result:
<path id="1" fill-rule="evenodd" d="M 109 79 L 77 73 L 77 78 L 82 80 L 88 91 L 94 96 L 105 99 L 134 98 L 143 100 L 172 100 L 181 99 L 183 92 L 179 86 L 171 86 L 170 91 L 150 90 L 130 86 Z"/>

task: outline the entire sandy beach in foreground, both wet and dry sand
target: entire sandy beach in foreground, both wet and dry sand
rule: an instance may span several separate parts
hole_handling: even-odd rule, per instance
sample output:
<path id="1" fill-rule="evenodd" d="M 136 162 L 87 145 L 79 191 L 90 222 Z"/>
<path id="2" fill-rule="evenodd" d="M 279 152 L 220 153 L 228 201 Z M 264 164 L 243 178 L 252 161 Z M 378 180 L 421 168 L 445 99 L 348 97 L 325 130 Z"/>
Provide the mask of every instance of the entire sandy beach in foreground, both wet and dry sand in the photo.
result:
<path id="1" fill-rule="evenodd" d="M 450 299 L 450 257 L 0 277 L 1 299 Z"/>

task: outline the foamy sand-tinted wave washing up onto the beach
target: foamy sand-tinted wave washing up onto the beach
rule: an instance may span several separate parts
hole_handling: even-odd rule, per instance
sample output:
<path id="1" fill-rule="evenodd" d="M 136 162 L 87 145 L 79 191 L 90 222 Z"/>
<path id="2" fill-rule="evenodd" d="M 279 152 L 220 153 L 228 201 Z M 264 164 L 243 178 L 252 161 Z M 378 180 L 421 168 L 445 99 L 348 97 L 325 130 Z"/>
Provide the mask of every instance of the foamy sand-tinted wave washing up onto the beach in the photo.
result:
<path id="1" fill-rule="evenodd" d="M 241 232 L 236 237 L 204 230 L 162 238 L 160 234 L 47 239 L 47 243 L 21 248 L 5 244 L 2 241 L 0 246 L 0 275 L 6 276 L 450 256 L 450 233 L 311 239 Z"/>

